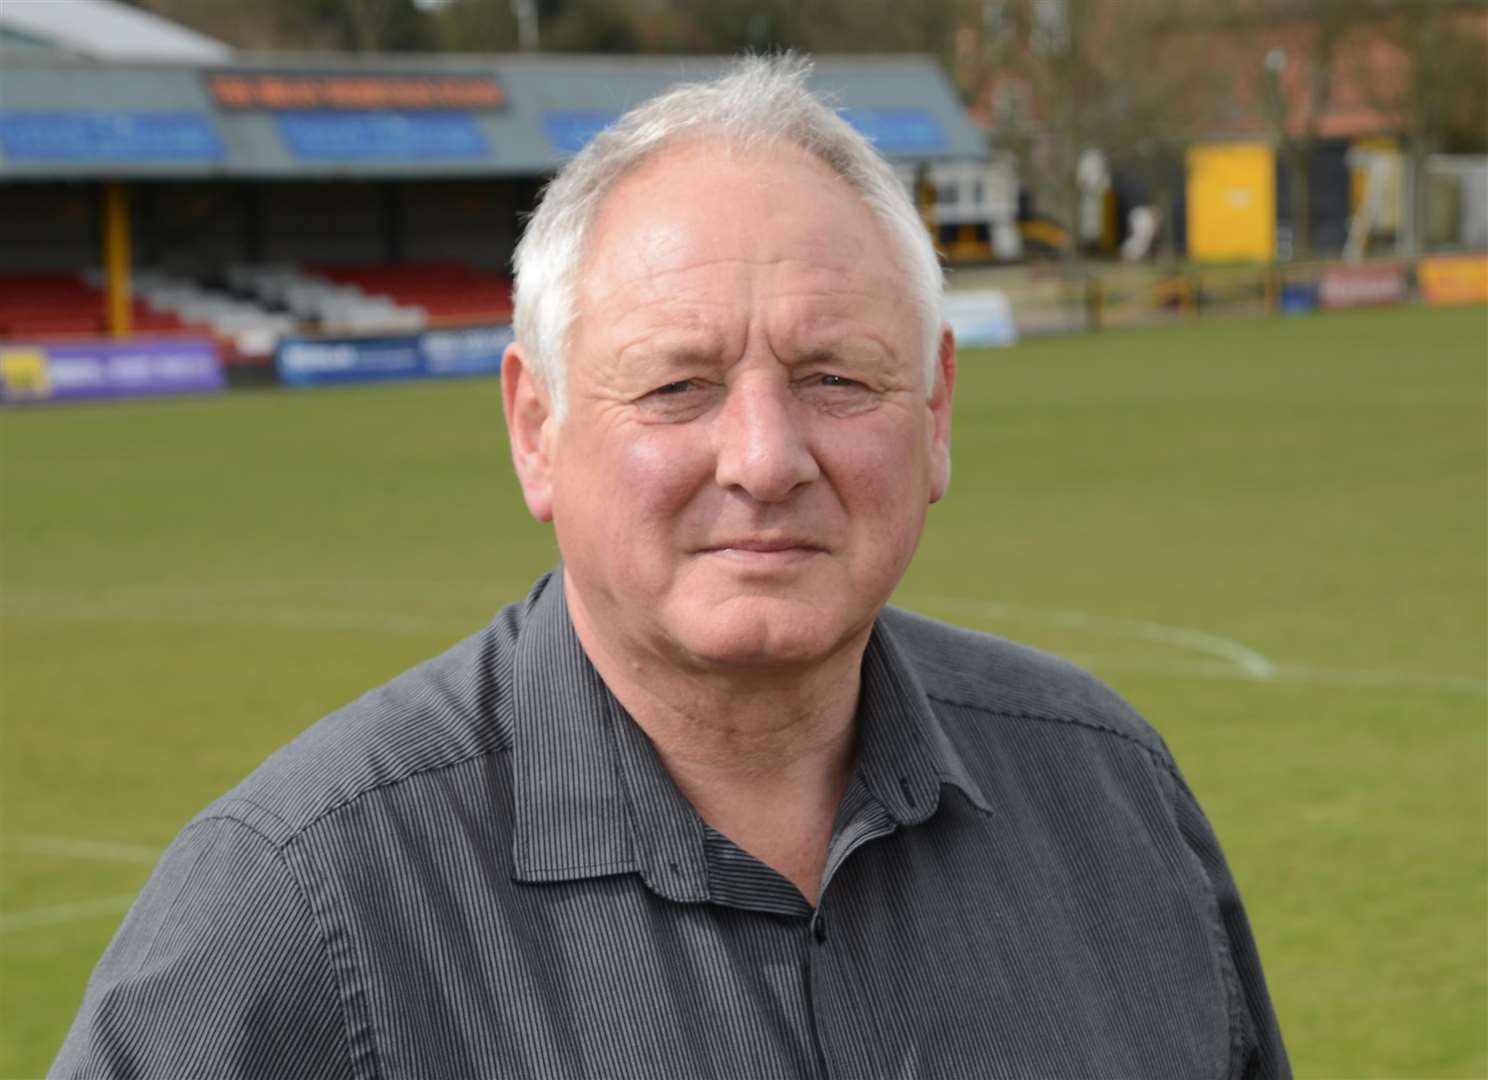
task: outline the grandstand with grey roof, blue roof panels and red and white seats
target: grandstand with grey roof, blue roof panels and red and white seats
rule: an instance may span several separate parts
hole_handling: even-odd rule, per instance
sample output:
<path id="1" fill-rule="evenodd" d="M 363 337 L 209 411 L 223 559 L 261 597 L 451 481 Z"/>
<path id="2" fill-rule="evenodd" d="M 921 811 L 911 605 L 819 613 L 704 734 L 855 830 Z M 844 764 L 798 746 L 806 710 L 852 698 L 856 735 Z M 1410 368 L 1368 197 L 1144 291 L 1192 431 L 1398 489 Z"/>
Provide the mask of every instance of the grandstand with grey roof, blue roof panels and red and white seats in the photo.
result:
<path id="1" fill-rule="evenodd" d="M 725 62 L 119 60 L 13 37 L 0 341 L 195 332 L 229 360 L 286 335 L 507 320 L 510 254 L 545 180 L 626 107 Z M 811 79 L 911 189 L 992 167 L 929 58 L 821 58 Z"/>

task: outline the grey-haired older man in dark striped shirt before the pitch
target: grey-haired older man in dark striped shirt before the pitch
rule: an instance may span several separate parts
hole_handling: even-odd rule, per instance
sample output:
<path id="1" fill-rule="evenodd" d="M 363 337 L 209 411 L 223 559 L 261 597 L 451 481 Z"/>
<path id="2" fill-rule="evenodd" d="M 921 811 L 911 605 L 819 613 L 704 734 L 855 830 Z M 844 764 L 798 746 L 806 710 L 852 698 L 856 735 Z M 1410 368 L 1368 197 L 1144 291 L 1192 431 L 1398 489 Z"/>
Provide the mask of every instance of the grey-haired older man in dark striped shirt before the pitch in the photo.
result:
<path id="1" fill-rule="evenodd" d="M 562 567 L 192 823 L 55 1073 L 1286 1076 L 1161 739 L 885 608 L 946 486 L 939 290 L 799 64 L 600 135 L 503 369 Z"/>

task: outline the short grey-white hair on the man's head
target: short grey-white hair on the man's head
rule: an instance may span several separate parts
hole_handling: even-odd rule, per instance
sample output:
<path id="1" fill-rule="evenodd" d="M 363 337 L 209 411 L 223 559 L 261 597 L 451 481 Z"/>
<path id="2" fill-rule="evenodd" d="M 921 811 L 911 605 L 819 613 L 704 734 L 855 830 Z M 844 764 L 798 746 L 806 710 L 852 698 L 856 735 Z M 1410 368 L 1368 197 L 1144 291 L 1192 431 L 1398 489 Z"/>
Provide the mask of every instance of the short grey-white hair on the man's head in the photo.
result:
<path id="1" fill-rule="evenodd" d="M 884 226 L 924 326 L 926 393 L 934 387 L 943 275 L 930 234 L 872 143 L 806 89 L 811 61 L 743 57 L 711 82 L 680 83 L 625 113 L 548 184 L 512 257 L 515 332 L 528 367 L 564 415 L 567 353 L 585 244 L 604 198 L 680 143 L 719 138 L 741 150 L 792 144 L 826 164 Z"/>

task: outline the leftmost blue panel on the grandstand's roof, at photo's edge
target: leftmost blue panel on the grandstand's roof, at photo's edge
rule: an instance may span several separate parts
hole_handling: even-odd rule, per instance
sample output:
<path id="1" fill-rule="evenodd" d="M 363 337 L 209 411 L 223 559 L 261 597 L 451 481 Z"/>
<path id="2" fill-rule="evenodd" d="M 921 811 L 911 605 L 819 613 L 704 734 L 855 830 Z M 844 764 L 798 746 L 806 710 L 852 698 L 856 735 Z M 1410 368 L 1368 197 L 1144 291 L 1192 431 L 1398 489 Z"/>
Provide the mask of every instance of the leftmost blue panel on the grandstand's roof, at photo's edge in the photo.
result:
<path id="1" fill-rule="evenodd" d="M 222 161 L 222 140 L 199 113 L 0 112 L 12 161 Z"/>

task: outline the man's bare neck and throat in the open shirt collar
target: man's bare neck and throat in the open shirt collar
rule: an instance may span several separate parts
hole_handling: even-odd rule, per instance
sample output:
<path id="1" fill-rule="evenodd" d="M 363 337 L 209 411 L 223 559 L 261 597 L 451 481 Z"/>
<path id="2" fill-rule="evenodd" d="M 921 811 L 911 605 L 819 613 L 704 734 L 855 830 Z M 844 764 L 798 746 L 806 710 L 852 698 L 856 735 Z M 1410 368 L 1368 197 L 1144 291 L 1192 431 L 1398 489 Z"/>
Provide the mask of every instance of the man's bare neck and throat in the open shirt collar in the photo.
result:
<path id="1" fill-rule="evenodd" d="M 567 591 L 585 653 L 710 826 L 817 901 L 856 748 L 863 649 L 790 672 L 618 655 Z"/>

